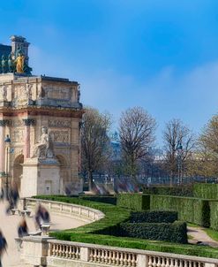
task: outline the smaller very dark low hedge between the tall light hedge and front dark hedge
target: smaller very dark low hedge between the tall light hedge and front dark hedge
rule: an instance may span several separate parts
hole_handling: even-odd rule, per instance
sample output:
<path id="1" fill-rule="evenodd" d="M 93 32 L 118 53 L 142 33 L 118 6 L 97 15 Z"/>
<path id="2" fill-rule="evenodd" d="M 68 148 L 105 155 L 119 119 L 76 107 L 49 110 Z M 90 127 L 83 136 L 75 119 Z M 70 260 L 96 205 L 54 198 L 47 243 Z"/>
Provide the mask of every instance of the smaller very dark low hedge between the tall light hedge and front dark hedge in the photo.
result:
<path id="1" fill-rule="evenodd" d="M 130 223 L 174 223 L 178 218 L 177 211 L 146 210 L 132 211 Z"/>

